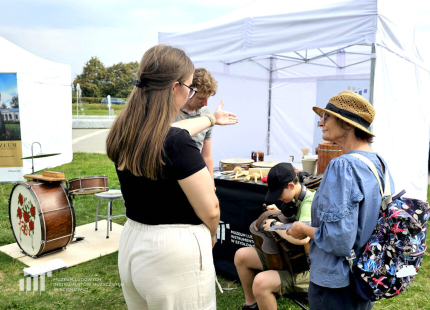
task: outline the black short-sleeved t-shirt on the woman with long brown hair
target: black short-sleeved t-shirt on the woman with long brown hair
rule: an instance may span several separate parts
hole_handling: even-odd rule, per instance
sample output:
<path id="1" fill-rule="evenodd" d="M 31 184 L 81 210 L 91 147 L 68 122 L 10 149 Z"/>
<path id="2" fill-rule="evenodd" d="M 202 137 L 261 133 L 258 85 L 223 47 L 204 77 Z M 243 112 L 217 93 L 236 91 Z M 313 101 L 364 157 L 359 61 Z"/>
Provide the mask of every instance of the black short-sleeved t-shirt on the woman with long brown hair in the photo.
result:
<path id="1" fill-rule="evenodd" d="M 150 225 L 201 224 L 177 180 L 204 168 L 203 157 L 188 131 L 176 127 L 169 129 L 164 150 L 165 165 L 157 180 L 116 168 L 125 213 L 132 220 Z"/>

